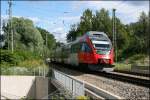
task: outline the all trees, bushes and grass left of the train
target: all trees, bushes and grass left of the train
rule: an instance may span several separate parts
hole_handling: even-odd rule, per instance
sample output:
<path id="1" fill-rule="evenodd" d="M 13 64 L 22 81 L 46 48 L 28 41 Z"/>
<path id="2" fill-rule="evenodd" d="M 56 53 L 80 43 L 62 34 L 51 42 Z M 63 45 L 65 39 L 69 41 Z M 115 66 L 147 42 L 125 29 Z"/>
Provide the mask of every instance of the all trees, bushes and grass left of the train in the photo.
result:
<path id="1" fill-rule="evenodd" d="M 9 24 L 3 24 L 5 45 L 0 50 L 1 74 L 28 74 L 38 67 L 48 67 L 45 64 L 45 58 L 50 55 L 52 47 L 55 46 L 54 36 L 45 29 L 35 27 L 29 19 L 13 17 L 15 41 L 12 53 L 11 39 L 7 38 L 10 32 L 9 27 Z M 20 72 L 14 72 L 16 70 Z"/>

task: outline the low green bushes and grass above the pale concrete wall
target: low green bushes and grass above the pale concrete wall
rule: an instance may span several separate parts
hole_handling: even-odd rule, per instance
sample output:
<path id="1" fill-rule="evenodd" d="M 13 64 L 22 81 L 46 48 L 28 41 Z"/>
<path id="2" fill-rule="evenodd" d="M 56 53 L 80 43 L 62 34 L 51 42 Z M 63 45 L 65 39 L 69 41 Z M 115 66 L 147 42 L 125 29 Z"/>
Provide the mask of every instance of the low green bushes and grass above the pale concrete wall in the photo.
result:
<path id="1" fill-rule="evenodd" d="M 1 75 L 34 75 L 48 66 L 42 57 L 28 51 L 1 50 L 0 56 Z"/>

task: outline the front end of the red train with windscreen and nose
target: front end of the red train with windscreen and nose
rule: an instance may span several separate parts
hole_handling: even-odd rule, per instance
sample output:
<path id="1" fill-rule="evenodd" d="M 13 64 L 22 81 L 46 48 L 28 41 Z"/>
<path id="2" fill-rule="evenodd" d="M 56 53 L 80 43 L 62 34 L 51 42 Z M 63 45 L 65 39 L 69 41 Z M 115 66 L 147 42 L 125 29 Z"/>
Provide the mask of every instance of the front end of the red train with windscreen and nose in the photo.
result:
<path id="1" fill-rule="evenodd" d="M 112 43 L 103 32 L 90 32 L 89 39 L 92 44 L 95 65 L 89 65 L 89 68 L 102 71 L 113 71 L 114 51 Z"/>

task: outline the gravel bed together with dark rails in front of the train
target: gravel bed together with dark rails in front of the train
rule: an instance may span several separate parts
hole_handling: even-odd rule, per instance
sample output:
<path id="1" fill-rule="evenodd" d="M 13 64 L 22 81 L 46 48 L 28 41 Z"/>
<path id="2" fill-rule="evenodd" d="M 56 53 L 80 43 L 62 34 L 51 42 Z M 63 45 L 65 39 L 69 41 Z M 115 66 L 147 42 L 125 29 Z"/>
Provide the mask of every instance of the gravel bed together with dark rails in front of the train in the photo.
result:
<path id="1" fill-rule="evenodd" d="M 125 75 L 117 75 L 114 72 L 109 74 L 99 72 L 87 72 L 68 67 L 71 66 L 64 67 L 62 65 L 56 65 L 55 68 L 66 73 L 67 75 L 74 76 L 77 79 L 83 80 L 122 98 L 140 100 L 149 98 L 149 83 L 144 85 L 145 83 L 143 82 L 143 80 L 148 80 L 148 77 L 146 79 L 142 77 L 137 77 L 137 79 L 141 78 L 143 80 L 139 80 L 139 82 L 136 83 L 135 80 L 132 80 L 134 81 L 132 82 L 131 78 L 124 77 Z M 130 77 L 135 78 L 136 76 Z"/>

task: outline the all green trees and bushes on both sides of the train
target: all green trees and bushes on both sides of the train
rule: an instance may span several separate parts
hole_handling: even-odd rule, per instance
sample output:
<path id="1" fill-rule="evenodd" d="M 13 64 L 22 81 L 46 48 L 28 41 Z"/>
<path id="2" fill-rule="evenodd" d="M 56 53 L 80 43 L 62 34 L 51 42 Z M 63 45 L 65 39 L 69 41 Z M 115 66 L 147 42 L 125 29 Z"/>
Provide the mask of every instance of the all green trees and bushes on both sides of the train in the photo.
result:
<path id="1" fill-rule="evenodd" d="M 117 32 L 117 58 L 116 70 L 131 69 L 132 64 L 149 66 L 149 13 L 142 12 L 139 20 L 130 24 L 123 24 L 116 18 Z M 9 23 L 3 24 L 4 35 L 1 39 L 5 45 L 1 48 L 1 68 L 12 66 L 37 67 L 45 66 L 43 59 L 49 57 L 53 48 L 60 46 L 54 36 L 45 29 L 35 27 L 29 19 L 12 18 L 14 32 L 14 53 L 11 53 L 11 45 L 7 38 Z M 103 31 L 112 40 L 112 18 L 106 9 L 92 12 L 86 9 L 80 17 L 80 22 L 73 24 L 67 34 L 67 41 L 74 41 L 86 31 Z M 46 41 L 47 36 L 47 41 Z M 1 40 L 2 41 L 2 40 Z M 4 68 L 4 69 L 5 69 Z"/>

